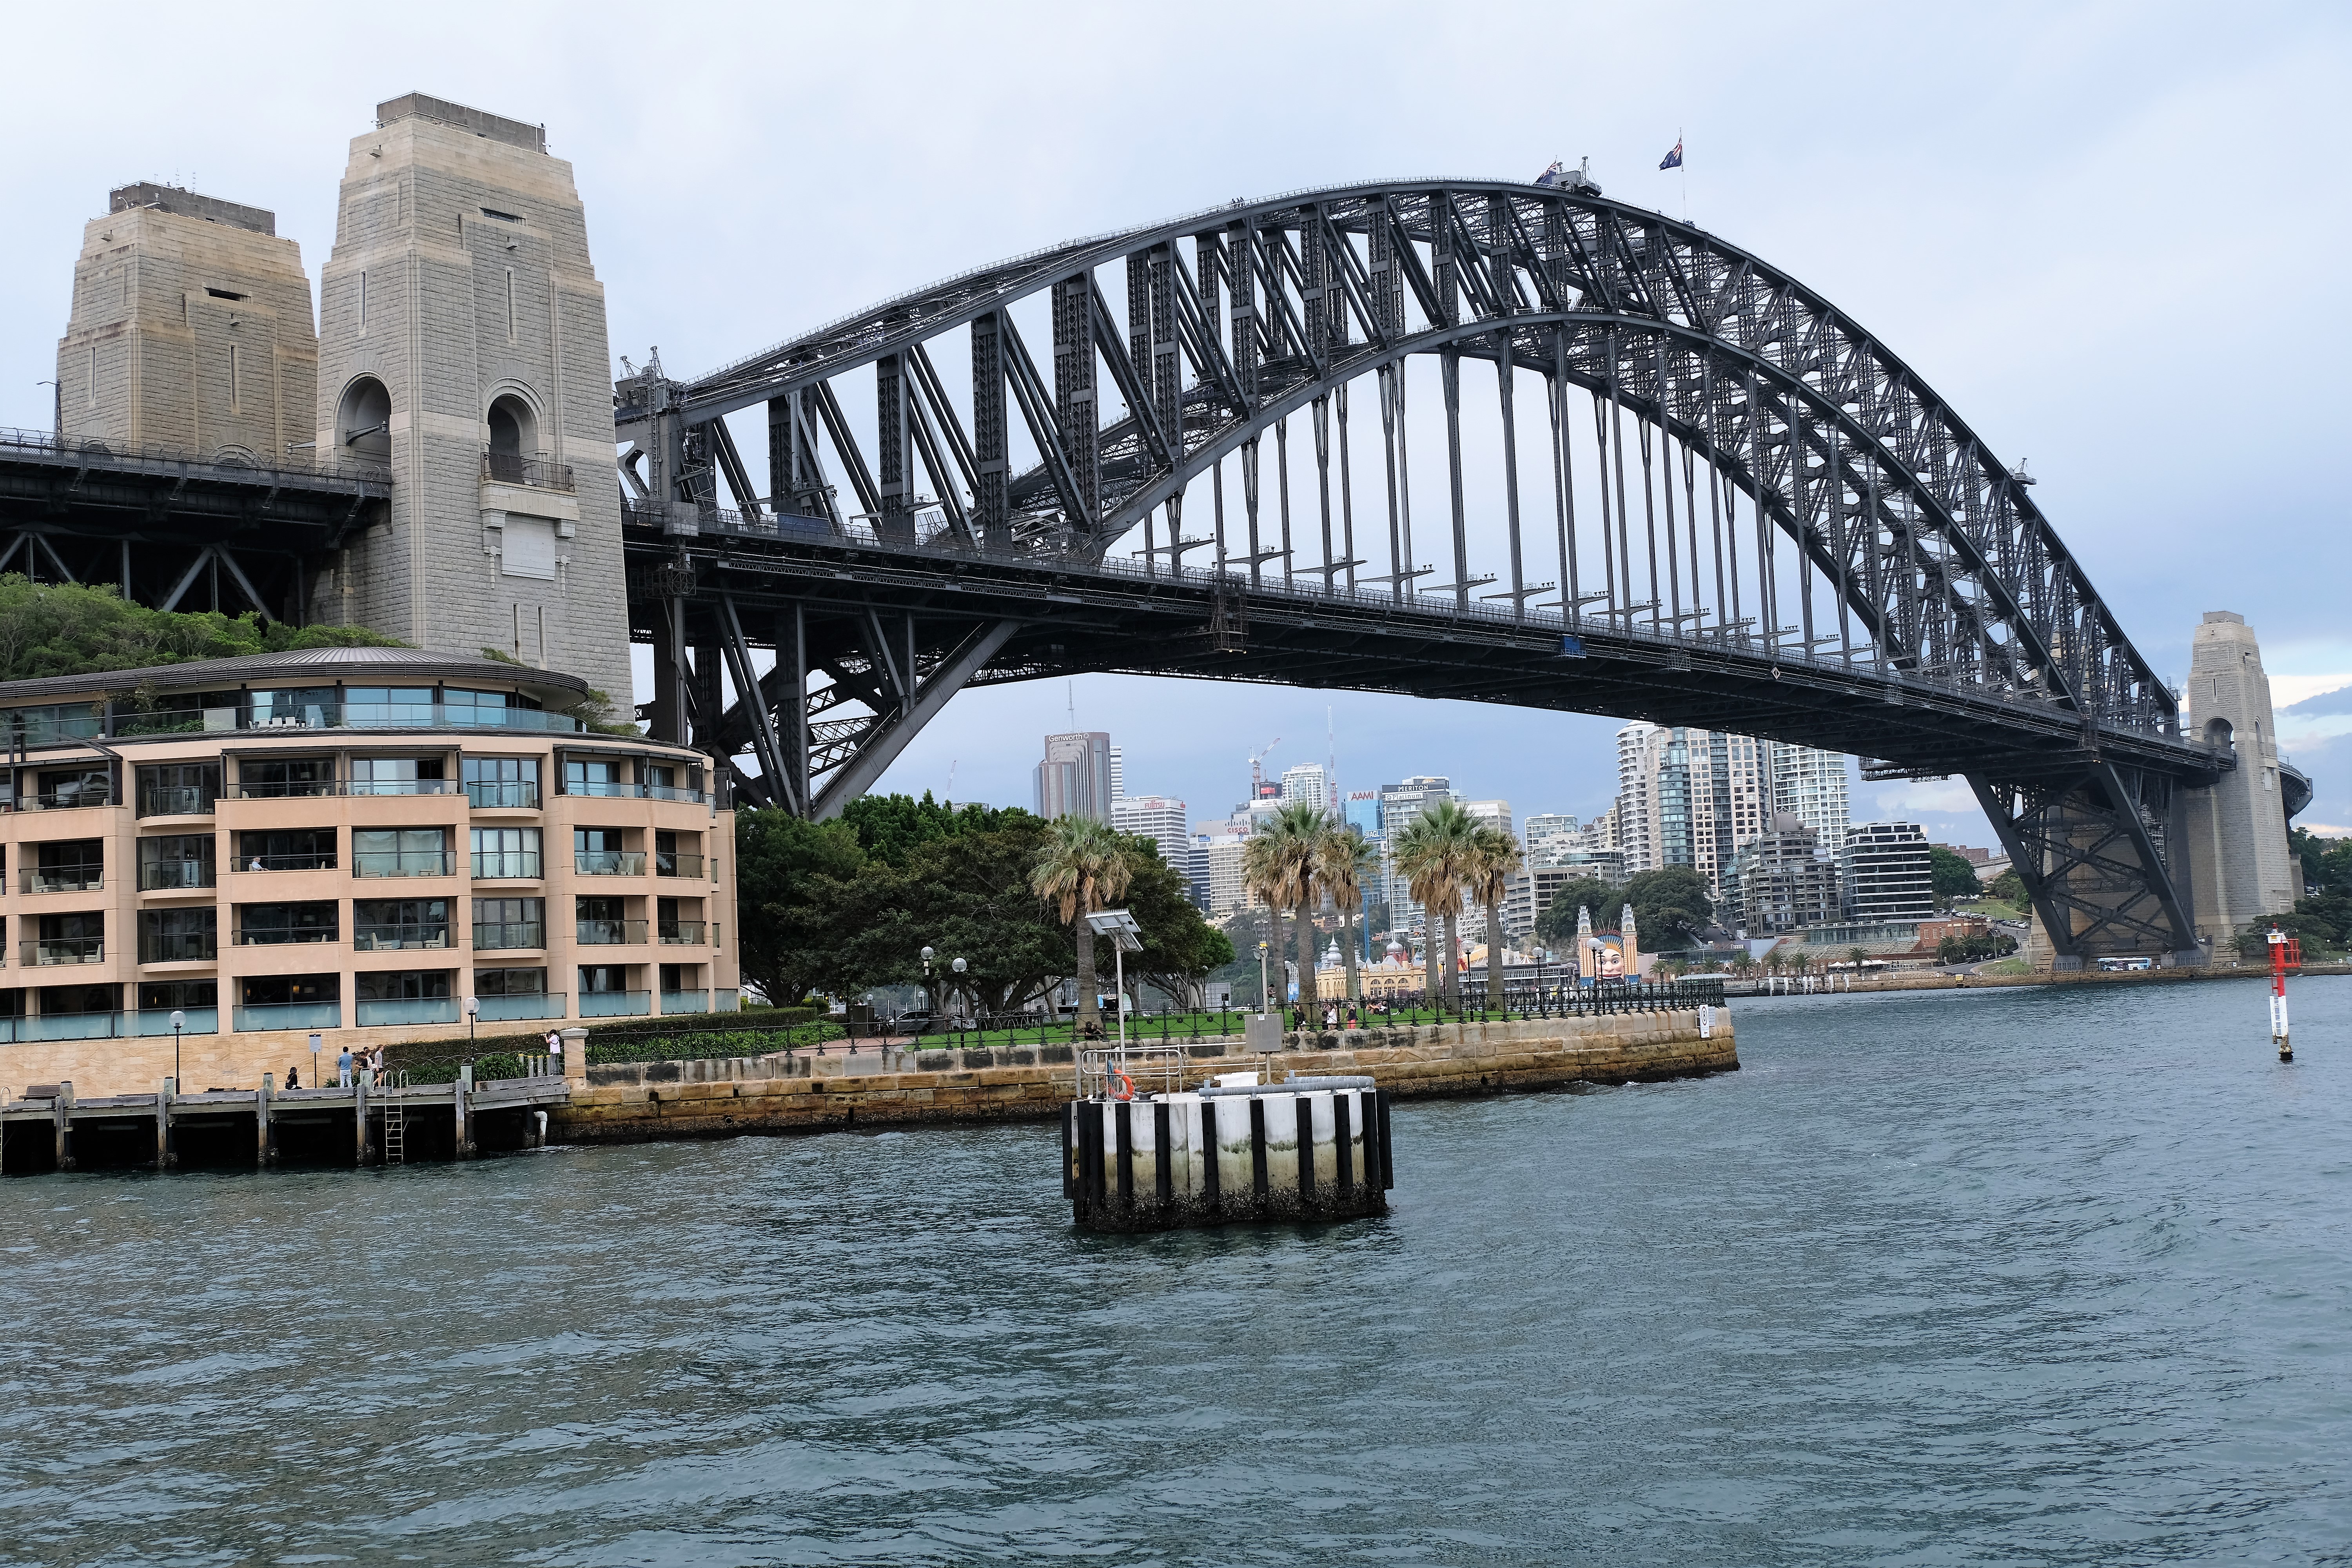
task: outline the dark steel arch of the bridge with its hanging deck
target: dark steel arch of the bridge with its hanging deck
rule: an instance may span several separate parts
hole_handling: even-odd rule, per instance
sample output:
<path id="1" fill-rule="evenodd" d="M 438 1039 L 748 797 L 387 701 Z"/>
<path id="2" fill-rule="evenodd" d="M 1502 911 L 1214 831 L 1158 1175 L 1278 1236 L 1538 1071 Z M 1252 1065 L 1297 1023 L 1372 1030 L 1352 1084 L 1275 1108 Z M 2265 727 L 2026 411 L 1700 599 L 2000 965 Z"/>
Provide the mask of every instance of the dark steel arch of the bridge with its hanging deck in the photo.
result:
<path id="1" fill-rule="evenodd" d="M 1122 266 L 1124 313 L 1101 287 Z M 1014 320 L 1023 301 L 1044 306 L 1051 376 Z M 931 355 L 955 331 L 969 334 L 962 407 Z M 1442 592 L 1416 590 L 1435 569 L 1416 564 L 1411 543 L 1402 367 L 1414 355 L 1442 371 Z M 1510 585 L 1479 599 L 1508 607 L 1505 663 L 1529 663 L 1545 639 L 1557 651 L 1559 635 L 1585 642 L 1573 670 L 1538 665 L 1559 691 L 1531 691 L 1508 670 L 1482 689 L 1435 691 L 1432 661 L 1404 646 L 1458 646 L 1432 625 L 1496 621 L 1472 599 L 1491 578 L 1470 562 L 1465 360 L 1496 367 L 1505 433 Z M 875 378 L 870 458 L 835 390 L 863 369 Z M 1548 508 L 1522 505 L 1522 371 L 1545 393 Z M 1378 576 L 1357 571 L 1371 562 L 1357 557 L 1345 456 L 1352 383 L 1371 386 L 1381 423 L 1385 484 L 1364 508 L 1374 536 L 1385 524 Z M 1578 477 L 1571 393 L 1592 404 L 1597 475 Z M 981 268 L 696 381 L 633 376 L 619 395 L 633 442 L 637 632 L 656 642 L 666 682 L 656 722 L 757 755 L 760 776 L 746 778 L 755 797 L 837 809 L 969 682 L 1070 668 L 1265 679 L 1251 632 L 1237 630 L 1249 623 L 1261 637 L 1291 628 L 1277 635 L 1312 661 L 1289 670 L 1298 684 L 1710 726 L 1743 726 L 1724 722 L 1722 696 L 1748 693 L 1731 710 L 1755 733 L 1858 750 L 1889 771 L 1969 773 L 2063 954 L 2192 947 L 2164 856 L 2173 790 L 2230 759 L 2180 738 L 2171 691 L 2023 475 L 1825 299 L 1689 223 L 1595 190 L 1494 181 L 1308 190 Z M 767 409 L 769 496 L 755 494 L 724 418 L 753 407 Z M 1287 482 L 1301 414 L 1322 531 L 1322 564 L 1305 567 Z M 1035 456 L 1018 470 L 1016 418 Z M 1284 473 L 1279 550 L 1261 517 L 1268 433 Z M 1228 458 L 1242 491 L 1232 531 Z M 1195 494 L 1200 515 L 1204 480 L 1216 527 L 1190 536 L 1183 508 Z M 1552 512 L 1538 524 L 1550 538 L 1526 524 L 1534 510 Z M 1138 531 L 1141 571 L 1110 559 Z M 1555 545 L 1557 578 L 1536 583 Z M 1211 564 L 1188 567 L 1188 552 Z M 1265 569 L 1275 559 L 1279 583 Z M 1301 590 L 1303 578 L 1317 581 Z M 1122 642 L 1120 628 L 1084 623 L 1058 607 L 1073 595 L 1056 585 L 1108 595 L 1134 630 Z M 1557 614 L 1529 604 L 1552 590 Z M 769 614 L 783 609 L 790 628 Z M 1169 616 L 1192 616 L 1200 637 L 1171 649 Z M 1348 649 L 1308 635 L 1350 618 Z M 1157 651 L 1143 646 L 1145 628 Z M 779 651 L 764 679 L 755 644 Z M 1402 672 L 1374 670 L 1383 658 Z M 762 701 L 722 705 L 722 661 L 736 691 Z M 1790 677 L 1813 696 L 1778 701 Z M 1569 701 L 1578 689 L 1592 701 Z M 1823 717 L 1832 708 L 1835 724 Z"/>

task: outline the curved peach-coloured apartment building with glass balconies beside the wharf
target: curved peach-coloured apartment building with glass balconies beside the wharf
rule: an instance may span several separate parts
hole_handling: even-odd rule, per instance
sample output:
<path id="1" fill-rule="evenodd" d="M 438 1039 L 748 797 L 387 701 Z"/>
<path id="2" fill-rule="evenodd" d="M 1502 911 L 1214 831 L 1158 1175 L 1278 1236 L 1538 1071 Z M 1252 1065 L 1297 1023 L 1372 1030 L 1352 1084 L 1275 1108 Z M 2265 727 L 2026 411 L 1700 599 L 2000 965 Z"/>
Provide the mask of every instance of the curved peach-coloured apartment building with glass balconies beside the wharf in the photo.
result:
<path id="1" fill-rule="evenodd" d="M 183 1081 L 247 1084 L 310 1034 L 332 1070 L 468 1013 L 731 1009 L 708 757 L 593 729 L 586 691 L 414 649 L 0 684 L 7 1079 L 151 1084 L 174 1013 Z"/>

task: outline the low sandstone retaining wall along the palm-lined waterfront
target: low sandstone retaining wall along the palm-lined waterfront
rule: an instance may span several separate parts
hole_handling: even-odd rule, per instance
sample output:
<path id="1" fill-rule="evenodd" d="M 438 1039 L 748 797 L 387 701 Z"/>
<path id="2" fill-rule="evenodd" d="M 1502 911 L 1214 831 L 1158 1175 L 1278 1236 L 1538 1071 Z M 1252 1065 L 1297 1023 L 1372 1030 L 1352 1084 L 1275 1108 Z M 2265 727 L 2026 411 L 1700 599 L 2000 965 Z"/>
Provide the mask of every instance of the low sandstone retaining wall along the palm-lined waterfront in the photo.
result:
<path id="1" fill-rule="evenodd" d="M 1188 1084 L 1258 1058 L 1240 1039 L 1185 1046 Z M 1698 1013 L 1526 1018 L 1345 1034 L 1289 1034 L 1277 1072 L 1369 1072 L 1397 1098 L 1491 1095 L 1564 1084 L 1628 1084 L 1731 1072 L 1729 1009 L 1710 1039 Z M 590 1067 L 588 1088 L 553 1112 L 560 1143 L 731 1138 L 924 1121 L 1049 1121 L 1075 1086 L 1070 1046 L 997 1051 L 863 1048 L 699 1063 Z"/>

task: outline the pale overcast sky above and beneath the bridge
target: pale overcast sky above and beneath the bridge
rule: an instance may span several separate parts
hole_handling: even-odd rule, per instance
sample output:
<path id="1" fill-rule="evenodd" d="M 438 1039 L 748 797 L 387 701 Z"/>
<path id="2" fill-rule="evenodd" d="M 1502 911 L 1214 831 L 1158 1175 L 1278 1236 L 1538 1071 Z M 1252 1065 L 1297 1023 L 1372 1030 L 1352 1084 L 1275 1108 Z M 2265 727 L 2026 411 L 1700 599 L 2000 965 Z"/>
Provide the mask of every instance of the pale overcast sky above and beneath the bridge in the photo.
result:
<path id="1" fill-rule="evenodd" d="M 887 294 L 1235 195 L 1592 158 L 1820 289 L 2037 501 L 2171 677 L 2260 632 L 2307 823 L 2352 830 L 2340 5 L 45 7 L 0 99 L 0 423 L 45 428 L 106 190 L 268 207 L 313 280 L 346 143 L 430 92 L 574 162 L 614 353 L 694 374 Z M 1686 193 L 1656 169 L 1684 136 Z M 1197 816 L 1247 757 L 1599 811 L 1611 719 L 1089 677 L 950 703 L 884 788 L 1028 804 L 1037 738 L 1127 748 Z M 1856 816 L 1987 844 L 1962 783 Z"/>

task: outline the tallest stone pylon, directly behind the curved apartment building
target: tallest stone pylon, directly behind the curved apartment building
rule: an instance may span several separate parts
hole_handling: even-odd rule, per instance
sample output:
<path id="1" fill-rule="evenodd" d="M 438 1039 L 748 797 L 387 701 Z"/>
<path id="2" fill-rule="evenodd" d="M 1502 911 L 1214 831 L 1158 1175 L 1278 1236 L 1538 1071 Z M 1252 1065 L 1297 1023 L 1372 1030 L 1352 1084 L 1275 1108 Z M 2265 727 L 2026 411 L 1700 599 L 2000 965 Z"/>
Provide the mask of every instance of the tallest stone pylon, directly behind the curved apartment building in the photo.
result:
<path id="1" fill-rule="evenodd" d="M 581 675 L 628 712 L 604 284 L 536 125 L 409 94 L 350 141 L 320 277 L 318 449 L 390 468 L 313 618 Z"/>

